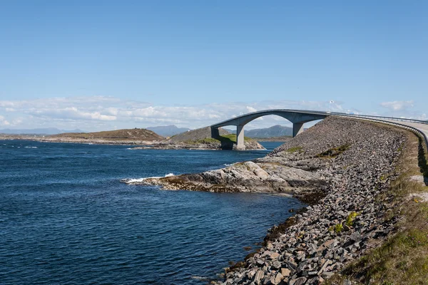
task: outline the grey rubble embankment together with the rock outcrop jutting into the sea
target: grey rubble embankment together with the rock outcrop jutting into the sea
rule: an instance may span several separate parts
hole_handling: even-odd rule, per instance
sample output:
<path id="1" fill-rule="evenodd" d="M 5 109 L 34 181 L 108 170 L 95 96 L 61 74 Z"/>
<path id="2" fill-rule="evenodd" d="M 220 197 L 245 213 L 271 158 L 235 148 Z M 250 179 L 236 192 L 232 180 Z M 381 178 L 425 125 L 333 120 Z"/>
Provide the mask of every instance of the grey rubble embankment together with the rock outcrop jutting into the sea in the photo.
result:
<path id="1" fill-rule="evenodd" d="M 387 190 L 406 142 L 397 128 L 326 118 L 261 159 L 142 183 L 295 195 L 310 206 L 270 229 L 260 251 L 214 283 L 321 284 L 394 232 L 398 217 L 387 214 L 393 199 Z"/>

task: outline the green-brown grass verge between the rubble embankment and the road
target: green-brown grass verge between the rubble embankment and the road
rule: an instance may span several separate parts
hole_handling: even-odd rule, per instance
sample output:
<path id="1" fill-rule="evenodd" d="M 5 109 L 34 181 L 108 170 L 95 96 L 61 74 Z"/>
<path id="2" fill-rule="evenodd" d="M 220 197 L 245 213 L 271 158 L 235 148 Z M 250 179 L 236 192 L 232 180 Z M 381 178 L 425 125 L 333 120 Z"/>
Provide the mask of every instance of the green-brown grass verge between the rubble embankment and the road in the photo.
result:
<path id="1" fill-rule="evenodd" d="M 409 179 L 421 172 L 427 173 L 427 152 L 421 139 L 412 133 L 406 134 L 407 142 L 399 150 L 397 171 L 401 174 L 389 189 L 394 199 L 388 204 L 384 202 L 388 209 L 385 219 L 400 217 L 397 234 L 325 284 L 342 284 L 345 279 L 351 279 L 353 284 L 428 285 L 428 203 L 409 199 L 409 194 L 428 192 L 424 184 Z M 355 219 L 353 216 L 357 217 L 351 213 L 347 223 Z"/>

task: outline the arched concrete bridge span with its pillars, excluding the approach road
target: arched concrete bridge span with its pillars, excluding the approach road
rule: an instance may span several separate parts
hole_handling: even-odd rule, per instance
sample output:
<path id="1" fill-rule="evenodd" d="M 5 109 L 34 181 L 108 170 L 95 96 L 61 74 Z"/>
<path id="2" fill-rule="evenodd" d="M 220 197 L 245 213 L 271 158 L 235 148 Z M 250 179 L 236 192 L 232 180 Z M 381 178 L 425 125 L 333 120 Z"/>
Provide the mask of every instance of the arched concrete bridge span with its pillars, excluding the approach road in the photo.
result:
<path id="1" fill-rule="evenodd" d="M 278 115 L 292 123 L 292 136 L 295 137 L 303 131 L 303 124 L 312 120 L 322 120 L 327 117 L 325 112 L 305 111 L 305 110 L 263 110 L 245 115 L 240 115 L 229 120 L 211 125 L 211 136 L 216 138 L 219 136 L 218 128 L 226 125 L 236 126 L 236 148 L 237 150 L 245 150 L 244 144 L 244 126 L 252 120 L 263 117 L 265 115 Z"/>

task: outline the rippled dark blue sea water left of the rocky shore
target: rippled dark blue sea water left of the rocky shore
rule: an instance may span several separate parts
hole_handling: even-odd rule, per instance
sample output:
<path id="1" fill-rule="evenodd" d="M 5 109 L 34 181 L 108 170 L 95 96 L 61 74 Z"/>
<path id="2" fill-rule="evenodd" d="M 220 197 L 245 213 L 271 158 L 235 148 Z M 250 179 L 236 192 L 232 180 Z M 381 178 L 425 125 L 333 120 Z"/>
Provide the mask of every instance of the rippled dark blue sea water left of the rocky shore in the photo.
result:
<path id="1" fill-rule="evenodd" d="M 266 153 L 0 141 L 0 284 L 203 284 L 300 202 L 120 180 Z"/>

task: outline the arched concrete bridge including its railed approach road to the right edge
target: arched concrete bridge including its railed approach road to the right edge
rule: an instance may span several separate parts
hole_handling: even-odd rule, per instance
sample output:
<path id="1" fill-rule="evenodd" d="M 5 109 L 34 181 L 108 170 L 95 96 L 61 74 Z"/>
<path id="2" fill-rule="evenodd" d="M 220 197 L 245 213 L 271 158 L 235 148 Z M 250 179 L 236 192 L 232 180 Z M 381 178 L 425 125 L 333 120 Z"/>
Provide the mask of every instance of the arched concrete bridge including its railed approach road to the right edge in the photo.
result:
<path id="1" fill-rule="evenodd" d="M 414 130 L 419 131 L 419 135 L 424 137 L 425 142 L 427 142 L 427 131 L 428 131 L 428 121 L 423 120 L 412 120 L 412 119 L 403 119 L 403 118 L 390 118 L 390 117 L 380 117 L 380 116 L 370 116 L 370 115 L 354 115 L 347 113 L 330 113 L 330 112 L 321 112 L 313 110 L 288 110 L 288 109 L 275 109 L 275 110 L 262 110 L 258 112 L 248 113 L 245 115 L 240 115 L 229 120 L 224 120 L 223 122 L 211 125 L 211 137 L 217 138 L 219 136 L 218 128 L 225 127 L 226 125 L 235 125 L 236 126 L 236 149 L 245 150 L 244 144 L 244 126 L 250 123 L 252 120 L 263 117 L 265 115 L 278 115 L 286 120 L 289 120 L 292 123 L 292 136 L 295 137 L 303 131 L 303 124 L 310 122 L 312 120 L 322 120 L 327 118 L 330 115 L 340 116 L 340 117 L 351 117 L 359 118 L 362 120 L 376 120 L 379 122 L 394 122 L 394 125 L 407 126 L 414 128 Z M 396 122 L 399 120 L 399 122 Z"/>

